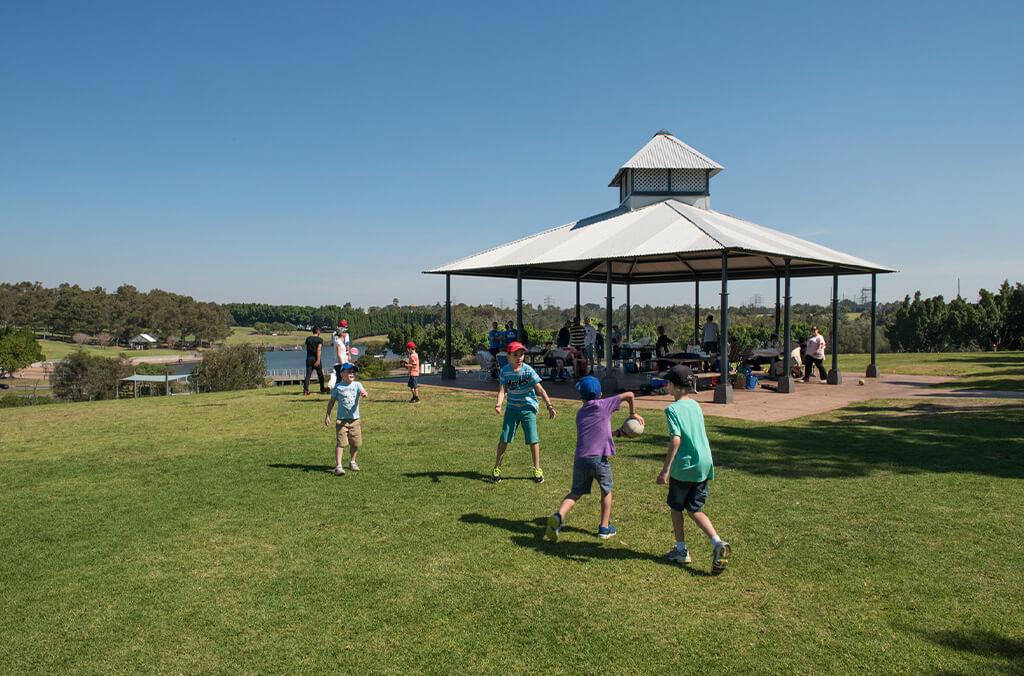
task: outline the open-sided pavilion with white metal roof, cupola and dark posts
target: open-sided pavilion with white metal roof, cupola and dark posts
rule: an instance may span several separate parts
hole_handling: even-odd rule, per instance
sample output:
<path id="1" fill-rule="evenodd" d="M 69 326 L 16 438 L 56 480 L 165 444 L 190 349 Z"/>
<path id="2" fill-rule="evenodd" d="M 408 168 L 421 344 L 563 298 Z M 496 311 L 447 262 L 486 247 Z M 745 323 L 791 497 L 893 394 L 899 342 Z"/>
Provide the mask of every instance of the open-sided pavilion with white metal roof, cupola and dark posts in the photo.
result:
<path id="1" fill-rule="evenodd" d="M 775 328 L 779 332 L 780 301 L 784 299 L 784 354 L 792 350 L 790 294 L 794 277 L 833 278 L 831 370 L 828 383 L 840 384 L 839 278 L 870 274 L 871 361 L 866 376 L 878 377 L 876 363 L 876 278 L 895 270 L 776 229 L 741 220 L 711 208 L 711 178 L 723 167 L 668 131 L 659 131 L 612 177 L 618 207 L 559 225 L 537 235 L 487 249 L 426 270 L 445 278 L 445 361 L 442 377 L 455 378 L 452 363 L 452 276 L 499 277 L 516 280 L 516 320 L 522 322 L 522 281 L 575 283 L 577 318 L 581 283 L 606 286 L 605 374 L 611 369 L 612 286 L 626 286 L 627 335 L 630 329 L 630 288 L 634 284 L 692 282 L 694 334 L 699 331 L 699 283 L 721 280 L 721 377 L 715 402 L 728 404 L 729 279 L 775 280 Z M 780 298 L 780 285 L 785 294 Z M 616 386 L 613 380 L 607 388 Z M 796 387 L 785 375 L 778 391 Z M 612 390 L 613 391 L 613 390 Z"/>

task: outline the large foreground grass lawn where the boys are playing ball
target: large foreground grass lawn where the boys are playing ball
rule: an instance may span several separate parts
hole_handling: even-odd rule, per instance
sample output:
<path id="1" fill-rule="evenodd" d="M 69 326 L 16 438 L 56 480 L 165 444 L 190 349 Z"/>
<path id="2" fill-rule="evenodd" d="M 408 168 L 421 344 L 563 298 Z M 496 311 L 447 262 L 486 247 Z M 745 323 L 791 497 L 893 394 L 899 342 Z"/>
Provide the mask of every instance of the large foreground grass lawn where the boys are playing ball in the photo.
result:
<path id="1" fill-rule="evenodd" d="M 713 578 L 692 524 L 694 564 L 662 558 L 664 417 L 618 446 L 620 536 L 585 498 L 550 544 L 574 408 L 540 423 L 546 483 L 516 445 L 492 485 L 489 398 L 368 387 L 340 478 L 326 398 L 295 388 L 0 410 L 5 670 L 1020 668 L 1021 403 L 709 418 Z"/>

